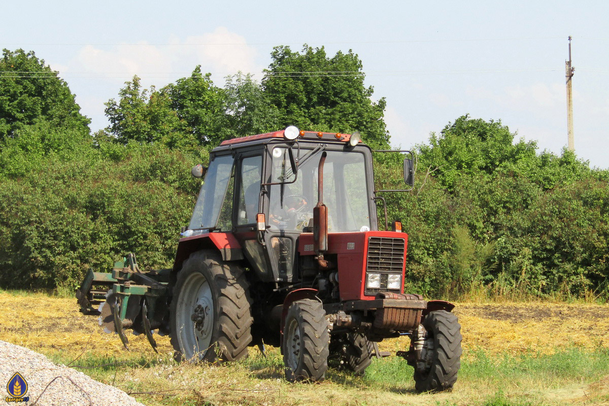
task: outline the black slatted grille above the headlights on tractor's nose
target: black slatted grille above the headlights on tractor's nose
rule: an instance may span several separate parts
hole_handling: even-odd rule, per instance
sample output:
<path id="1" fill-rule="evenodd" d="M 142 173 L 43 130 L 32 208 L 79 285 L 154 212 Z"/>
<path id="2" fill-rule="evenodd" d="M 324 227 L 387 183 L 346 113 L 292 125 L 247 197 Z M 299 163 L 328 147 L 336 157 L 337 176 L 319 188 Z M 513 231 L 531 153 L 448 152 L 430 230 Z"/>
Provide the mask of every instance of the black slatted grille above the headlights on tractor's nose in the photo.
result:
<path id="1" fill-rule="evenodd" d="M 368 237 L 367 272 L 401 273 L 404 267 L 404 239 Z"/>

